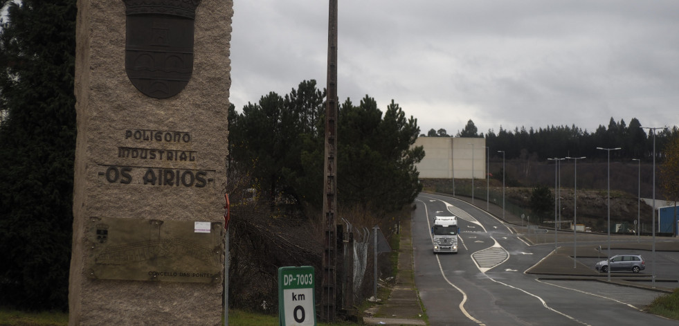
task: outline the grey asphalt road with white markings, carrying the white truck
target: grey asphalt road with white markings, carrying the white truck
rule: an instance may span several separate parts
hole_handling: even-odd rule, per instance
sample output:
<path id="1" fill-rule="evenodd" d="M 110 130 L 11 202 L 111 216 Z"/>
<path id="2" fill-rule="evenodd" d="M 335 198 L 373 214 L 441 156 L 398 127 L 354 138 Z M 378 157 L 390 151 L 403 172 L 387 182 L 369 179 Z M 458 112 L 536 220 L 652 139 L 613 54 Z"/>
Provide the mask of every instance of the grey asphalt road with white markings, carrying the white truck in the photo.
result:
<path id="1" fill-rule="evenodd" d="M 429 224 L 435 215 L 451 214 L 458 216 L 460 224 L 460 251 L 435 255 Z M 556 246 L 552 238 L 554 233 L 541 235 L 541 241 L 529 241 L 516 233 L 516 228 L 465 201 L 421 194 L 417 198 L 412 224 L 414 273 L 429 322 L 431 325 L 679 324 L 676 320 L 642 311 L 661 294 L 657 291 L 525 273 L 550 255 L 555 247 L 559 253 L 570 251 L 574 245 L 569 234 L 559 234 L 561 242 Z M 617 245 L 629 241 L 635 239 L 613 239 Z M 578 262 L 593 266 L 598 259 L 595 255 L 606 256 L 608 243 L 601 235 L 579 237 L 578 246 L 603 245 L 604 252 L 581 249 Z M 630 252 L 628 249 L 615 250 Z M 641 254 L 646 259 L 647 269 L 635 276 L 649 278 L 651 253 L 641 251 Z M 679 254 L 656 252 L 654 256 L 656 280 L 676 280 Z M 615 277 L 619 275 L 615 274 Z"/>

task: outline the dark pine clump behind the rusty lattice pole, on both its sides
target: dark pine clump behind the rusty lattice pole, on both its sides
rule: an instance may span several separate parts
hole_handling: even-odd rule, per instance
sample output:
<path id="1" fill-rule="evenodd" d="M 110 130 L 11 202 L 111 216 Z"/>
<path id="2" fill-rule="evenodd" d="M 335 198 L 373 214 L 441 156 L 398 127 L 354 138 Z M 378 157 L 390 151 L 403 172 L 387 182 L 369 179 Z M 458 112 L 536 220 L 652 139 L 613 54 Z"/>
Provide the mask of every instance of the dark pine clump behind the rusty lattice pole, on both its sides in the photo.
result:
<path id="1" fill-rule="evenodd" d="M 424 158 L 417 119 L 393 100 L 385 111 L 370 96 L 347 98 L 338 110 L 338 205 L 381 214 L 413 202 L 422 186 L 415 164 Z M 271 92 L 241 113 L 229 112 L 230 169 L 247 172 L 272 208 L 289 203 L 301 212 L 323 207 L 325 89 L 300 82 L 285 96 Z"/>

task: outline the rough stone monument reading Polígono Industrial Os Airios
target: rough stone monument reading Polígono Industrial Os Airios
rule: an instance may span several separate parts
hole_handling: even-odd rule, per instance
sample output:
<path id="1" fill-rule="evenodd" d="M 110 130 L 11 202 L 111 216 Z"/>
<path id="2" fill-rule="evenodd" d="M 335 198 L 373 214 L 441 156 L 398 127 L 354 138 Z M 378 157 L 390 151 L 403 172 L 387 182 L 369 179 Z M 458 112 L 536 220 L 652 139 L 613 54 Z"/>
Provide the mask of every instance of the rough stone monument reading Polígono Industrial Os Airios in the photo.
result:
<path id="1" fill-rule="evenodd" d="M 231 0 L 78 0 L 69 325 L 221 325 Z"/>

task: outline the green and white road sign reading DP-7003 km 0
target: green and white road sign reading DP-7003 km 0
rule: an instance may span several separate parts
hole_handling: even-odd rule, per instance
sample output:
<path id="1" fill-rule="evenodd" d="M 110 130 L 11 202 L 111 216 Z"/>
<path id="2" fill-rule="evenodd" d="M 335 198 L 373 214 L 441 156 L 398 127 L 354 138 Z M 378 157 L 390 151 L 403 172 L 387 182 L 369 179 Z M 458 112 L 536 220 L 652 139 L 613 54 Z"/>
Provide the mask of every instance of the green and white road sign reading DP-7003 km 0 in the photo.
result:
<path id="1" fill-rule="evenodd" d="M 278 269 L 278 320 L 281 326 L 316 325 L 314 267 Z"/>

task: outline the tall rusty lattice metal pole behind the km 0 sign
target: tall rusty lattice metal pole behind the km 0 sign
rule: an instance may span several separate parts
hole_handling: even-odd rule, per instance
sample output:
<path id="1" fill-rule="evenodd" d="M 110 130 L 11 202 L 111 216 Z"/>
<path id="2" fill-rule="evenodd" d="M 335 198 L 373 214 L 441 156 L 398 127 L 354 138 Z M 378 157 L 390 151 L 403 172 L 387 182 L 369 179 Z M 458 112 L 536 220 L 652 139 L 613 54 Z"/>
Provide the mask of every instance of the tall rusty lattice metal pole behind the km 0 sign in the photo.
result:
<path id="1" fill-rule="evenodd" d="M 325 212 L 325 248 L 323 250 L 324 320 L 335 318 L 336 299 L 336 180 L 337 180 L 337 0 L 329 0 L 327 46 L 327 97 L 325 105 L 325 187 L 323 212 Z"/>

